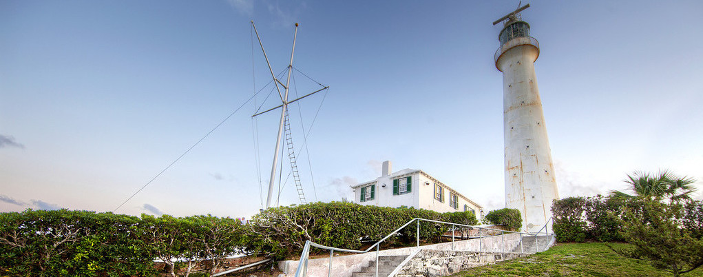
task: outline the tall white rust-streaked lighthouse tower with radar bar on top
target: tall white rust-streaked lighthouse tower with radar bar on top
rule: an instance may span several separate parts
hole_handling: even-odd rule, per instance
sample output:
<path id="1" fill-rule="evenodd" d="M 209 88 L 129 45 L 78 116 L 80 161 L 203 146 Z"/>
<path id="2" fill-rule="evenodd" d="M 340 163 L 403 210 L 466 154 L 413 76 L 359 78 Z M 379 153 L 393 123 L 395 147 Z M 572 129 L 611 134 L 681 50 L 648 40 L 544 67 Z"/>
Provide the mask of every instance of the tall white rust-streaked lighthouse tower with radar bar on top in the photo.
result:
<path id="1" fill-rule="evenodd" d="M 501 48 L 494 58 L 503 72 L 505 207 L 520 210 L 522 229 L 536 232 L 552 217 L 552 201 L 559 193 L 534 72 L 539 44 L 529 36 L 529 24 L 519 14 L 528 7 L 493 23 L 505 20 L 498 35 Z M 547 226 L 550 232 L 551 225 Z"/>

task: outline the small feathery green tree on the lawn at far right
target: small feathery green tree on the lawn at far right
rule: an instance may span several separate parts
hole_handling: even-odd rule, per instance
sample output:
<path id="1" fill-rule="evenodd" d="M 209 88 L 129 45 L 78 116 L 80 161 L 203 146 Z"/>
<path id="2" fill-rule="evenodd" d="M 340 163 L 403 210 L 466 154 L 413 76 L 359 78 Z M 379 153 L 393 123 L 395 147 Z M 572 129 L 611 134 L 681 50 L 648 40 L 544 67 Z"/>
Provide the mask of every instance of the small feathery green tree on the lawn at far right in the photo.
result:
<path id="1" fill-rule="evenodd" d="M 647 198 L 629 201 L 621 234 L 632 248 L 611 249 L 624 257 L 650 261 L 674 276 L 703 265 L 703 240 L 681 224 L 687 214 L 684 207 Z"/>

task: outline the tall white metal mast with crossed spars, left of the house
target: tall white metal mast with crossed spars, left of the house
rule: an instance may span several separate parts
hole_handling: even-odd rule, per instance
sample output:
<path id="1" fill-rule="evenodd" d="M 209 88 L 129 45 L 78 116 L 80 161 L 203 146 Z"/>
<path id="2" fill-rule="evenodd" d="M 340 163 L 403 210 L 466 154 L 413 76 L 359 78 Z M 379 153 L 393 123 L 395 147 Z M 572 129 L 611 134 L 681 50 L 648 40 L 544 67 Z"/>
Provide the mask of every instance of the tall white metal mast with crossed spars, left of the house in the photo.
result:
<path id="1" fill-rule="evenodd" d="M 280 101 L 282 102 L 281 105 L 278 105 L 274 108 L 271 108 L 269 110 L 265 110 L 264 112 L 259 112 L 255 115 L 252 115 L 252 117 L 255 117 L 257 115 L 261 115 L 265 112 L 269 112 L 271 110 L 275 110 L 277 108 L 282 108 L 280 111 L 280 124 L 278 125 L 278 137 L 276 138 L 276 150 L 274 151 L 273 154 L 273 164 L 271 165 L 271 178 L 269 179 L 269 194 L 266 196 L 266 209 L 271 207 L 271 198 L 273 196 L 273 184 L 276 182 L 276 169 L 278 168 L 278 151 L 280 150 L 280 139 L 281 136 L 283 135 L 283 129 L 285 127 L 285 122 L 287 121 L 288 117 L 288 104 L 293 103 L 295 101 L 298 101 L 302 98 L 305 98 L 307 96 L 310 96 L 312 94 L 317 93 L 318 91 L 322 91 L 323 89 L 328 89 L 329 86 L 325 86 L 322 89 L 318 89 L 317 91 L 312 92 L 311 94 L 307 94 L 305 96 L 302 96 L 300 98 L 297 98 L 293 101 L 288 101 L 288 89 L 290 88 L 290 73 L 292 72 L 293 69 L 293 55 L 295 54 L 295 39 L 298 34 L 298 23 L 295 23 L 295 33 L 293 34 L 293 46 L 292 50 L 290 51 L 290 63 L 288 63 L 288 79 L 286 79 L 285 84 L 283 82 L 280 82 L 278 78 L 276 78 L 276 75 L 273 74 L 273 69 L 271 68 L 271 63 L 269 63 L 269 58 L 266 56 L 266 51 L 264 50 L 264 44 L 262 44 L 262 40 L 259 37 L 259 32 L 257 32 L 257 27 L 254 25 L 254 21 L 252 20 L 252 27 L 254 27 L 254 33 L 257 34 L 257 39 L 259 40 L 259 45 L 262 48 L 262 52 L 264 52 L 264 58 L 266 59 L 266 64 L 269 65 L 269 72 L 271 72 L 271 77 L 273 77 L 273 84 L 276 84 L 276 90 L 278 90 L 278 96 L 280 96 Z M 281 94 L 280 92 L 280 86 L 283 86 L 284 93 Z M 286 133 L 288 134 L 290 130 L 288 130 Z M 290 146 L 289 146 L 290 148 Z M 291 155 L 291 154 L 289 154 Z M 297 175 L 297 173 L 296 173 Z M 304 202 L 304 195 L 302 194 L 302 186 L 300 185 L 299 181 L 296 181 L 296 186 L 298 190 L 298 195 L 301 199 L 302 202 Z"/>

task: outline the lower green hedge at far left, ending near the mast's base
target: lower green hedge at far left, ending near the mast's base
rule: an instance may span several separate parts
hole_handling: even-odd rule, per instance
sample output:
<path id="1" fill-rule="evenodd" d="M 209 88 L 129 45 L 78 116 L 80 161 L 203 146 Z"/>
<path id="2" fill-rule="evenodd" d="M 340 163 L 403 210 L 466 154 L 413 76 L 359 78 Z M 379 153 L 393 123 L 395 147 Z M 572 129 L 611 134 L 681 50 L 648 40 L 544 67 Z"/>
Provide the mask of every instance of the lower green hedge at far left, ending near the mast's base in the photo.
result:
<path id="1" fill-rule="evenodd" d="M 243 226 L 212 216 L 174 218 L 70 210 L 0 214 L 2 276 L 155 276 L 153 261 L 207 260 L 242 250 Z"/>

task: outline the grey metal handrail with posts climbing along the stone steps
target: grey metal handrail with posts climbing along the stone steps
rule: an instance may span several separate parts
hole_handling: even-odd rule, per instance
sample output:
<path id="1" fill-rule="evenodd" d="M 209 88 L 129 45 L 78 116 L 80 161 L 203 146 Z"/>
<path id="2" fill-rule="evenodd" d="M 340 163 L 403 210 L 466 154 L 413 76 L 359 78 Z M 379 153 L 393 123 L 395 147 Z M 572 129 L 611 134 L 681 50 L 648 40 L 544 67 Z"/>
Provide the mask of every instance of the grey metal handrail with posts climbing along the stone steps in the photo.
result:
<path id="1" fill-rule="evenodd" d="M 520 252 L 522 252 L 522 235 L 528 235 L 528 236 L 534 236 L 535 237 L 535 252 L 538 251 L 538 245 L 537 245 L 537 234 L 538 233 L 525 233 L 525 232 L 518 232 L 518 231 L 505 231 L 505 230 L 500 230 L 496 228 L 486 228 L 486 227 L 481 227 L 481 226 L 475 226 L 475 225 L 466 225 L 466 224 L 458 224 L 458 223 L 452 223 L 452 222 L 446 222 L 446 221 L 437 221 L 437 220 L 432 220 L 432 219 L 420 219 L 418 217 L 415 217 L 408 221 L 406 224 L 403 224 L 403 226 L 400 226 L 399 228 L 396 228 L 395 231 L 392 231 L 391 233 L 388 234 L 388 236 L 385 236 L 381 240 L 378 240 L 378 242 L 374 243 L 370 247 L 368 247 L 366 250 L 351 250 L 351 249 L 343 249 L 343 248 L 337 248 L 337 247 L 331 247 L 331 246 L 325 246 L 325 245 L 319 245 L 317 243 L 313 243 L 310 240 L 305 241 L 305 245 L 303 247 L 303 251 L 300 254 L 300 259 L 298 261 L 298 267 L 297 270 L 295 271 L 295 277 L 301 277 L 301 276 L 307 276 L 307 263 L 308 263 L 308 258 L 309 258 L 309 253 L 310 253 L 310 247 L 318 247 L 321 249 L 325 250 L 330 250 L 330 264 L 329 264 L 329 269 L 328 269 L 328 276 L 332 276 L 332 258 L 333 258 L 333 253 L 335 251 L 338 252 L 350 252 L 350 253 L 366 253 L 369 250 L 372 250 L 373 247 L 376 248 L 376 277 L 378 277 L 378 252 L 379 252 L 379 245 L 380 243 L 384 242 L 394 234 L 398 233 L 401 231 L 403 228 L 406 226 L 410 225 L 413 223 L 413 221 L 417 221 L 418 227 L 417 227 L 417 246 L 420 247 L 420 221 L 428 221 L 428 222 L 434 222 L 434 223 L 439 223 L 439 224 L 451 224 L 452 226 L 452 233 L 451 233 L 451 242 L 452 242 L 452 249 L 453 249 L 453 243 L 454 243 L 454 230 L 456 230 L 456 226 L 464 226 L 464 227 L 470 227 L 470 228 L 478 228 L 479 229 L 479 251 L 482 249 L 481 247 L 481 242 L 482 242 L 482 230 L 491 230 L 491 231 L 501 231 L 501 236 L 505 235 L 505 233 L 520 233 Z M 549 223 L 549 221 L 547 221 Z M 545 224 L 546 227 L 546 224 Z M 542 227 L 542 228 L 545 228 Z M 540 229 L 542 231 L 542 229 Z M 505 252 L 505 238 L 503 238 L 503 252 Z"/>

